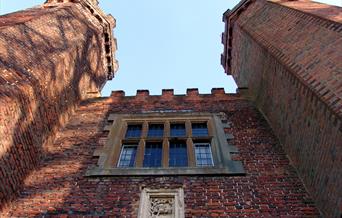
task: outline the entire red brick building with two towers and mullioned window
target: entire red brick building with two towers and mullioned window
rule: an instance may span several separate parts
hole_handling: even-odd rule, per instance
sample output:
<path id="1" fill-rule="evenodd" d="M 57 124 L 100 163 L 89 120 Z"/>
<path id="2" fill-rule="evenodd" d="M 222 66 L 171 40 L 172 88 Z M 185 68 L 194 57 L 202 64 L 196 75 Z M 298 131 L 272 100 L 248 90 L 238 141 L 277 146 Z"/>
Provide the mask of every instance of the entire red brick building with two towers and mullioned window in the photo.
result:
<path id="1" fill-rule="evenodd" d="M 1 16 L 1 216 L 339 217 L 341 11 L 241 1 L 222 37 L 237 94 L 105 98 L 97 1 Z"/>

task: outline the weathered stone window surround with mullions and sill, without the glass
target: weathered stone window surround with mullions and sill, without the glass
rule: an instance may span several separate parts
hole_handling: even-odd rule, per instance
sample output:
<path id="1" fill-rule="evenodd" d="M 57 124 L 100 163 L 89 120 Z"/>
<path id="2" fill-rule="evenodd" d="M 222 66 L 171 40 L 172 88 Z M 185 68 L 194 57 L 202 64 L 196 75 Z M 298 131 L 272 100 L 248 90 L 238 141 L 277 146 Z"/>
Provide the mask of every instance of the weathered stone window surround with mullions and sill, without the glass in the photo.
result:
<path id="1" fill-rule="evenodd" d="M 195 112 L 151 112 L 141 114 L 110 114 L 104 131 L 109 131 L 108 139 L 104 147 L 95 150 L 94 156 L 98 157 L 97 166 L 90 167 L 86 172 L 86 176 L 172 176 L 172 175 L 244 175 L 244 169 L 240 161 L 231 160 L 230 154 L 236 153 L 237 149 L 229 145 L 227 139 L 230 134 L 225 134 L 224 126 L 220 114 L 212 113 L 195 113 Z M 176 137 L 187 142 L 188 147 L 188 167 L 168 167 L 168 141 L 173 139 L 169 137 L 170 123 L 184 122 L 186 125 L 186 137 Z M 191 122 L 207 122 L 208 137 L 198 139 L 209 140 L 212 146 L 212 155 L 214 166 L 212 167 L 196 167 L 193 142 L 191 138 Z M 138 139 L 125 139 L 127 124 L 142 123 L 142 137 L 139 141 L 138 151 L 136 155 L 136 167 L 118 168 L 122 144 L 137 141 Z M 164 123 L 163 137 L 163 160 L 162 167 L 144 168 L 143 147 L 147 139 L 148 123 Z M 190 125 L 190 127 L 189 127 Z M 148 141 L 153 141 L 148 138 Z M 161 140 L 155 139 L 155 140 Z"/>

